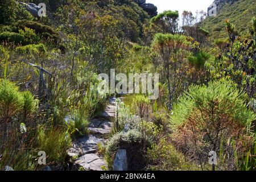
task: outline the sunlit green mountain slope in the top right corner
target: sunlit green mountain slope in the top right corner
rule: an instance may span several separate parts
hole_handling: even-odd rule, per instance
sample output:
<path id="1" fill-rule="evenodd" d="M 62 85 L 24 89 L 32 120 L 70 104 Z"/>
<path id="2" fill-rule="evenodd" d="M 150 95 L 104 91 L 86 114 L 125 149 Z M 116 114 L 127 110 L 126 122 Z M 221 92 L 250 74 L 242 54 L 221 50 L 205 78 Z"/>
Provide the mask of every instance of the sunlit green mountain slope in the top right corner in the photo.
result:
<path id="1" fill-rule="evenodd" d="M 226 36 L 226 19 L 234 23 L 241 35 L 249 34 L 250 20 L 256 16 L 256 0 L 215 0 L 214 3 L 217 5 L 217 16 L 208 16 L 203 24 L 212 38 Z"/>

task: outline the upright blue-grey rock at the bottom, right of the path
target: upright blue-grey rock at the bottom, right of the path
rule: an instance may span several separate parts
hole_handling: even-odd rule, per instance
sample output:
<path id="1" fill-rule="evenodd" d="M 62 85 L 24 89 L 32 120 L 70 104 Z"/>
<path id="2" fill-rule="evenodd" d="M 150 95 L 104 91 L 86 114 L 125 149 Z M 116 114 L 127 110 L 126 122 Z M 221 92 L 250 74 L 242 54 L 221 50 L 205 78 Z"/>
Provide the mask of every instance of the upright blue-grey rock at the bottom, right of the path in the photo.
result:
<path id="1" fill-rule="evenodd" d="M 128 163 L 127 163 L 126 150 L 118 150 L 117 154 L 115 154 L 113 170 L 127 171 L 127 169 L 128 169 Z"/>

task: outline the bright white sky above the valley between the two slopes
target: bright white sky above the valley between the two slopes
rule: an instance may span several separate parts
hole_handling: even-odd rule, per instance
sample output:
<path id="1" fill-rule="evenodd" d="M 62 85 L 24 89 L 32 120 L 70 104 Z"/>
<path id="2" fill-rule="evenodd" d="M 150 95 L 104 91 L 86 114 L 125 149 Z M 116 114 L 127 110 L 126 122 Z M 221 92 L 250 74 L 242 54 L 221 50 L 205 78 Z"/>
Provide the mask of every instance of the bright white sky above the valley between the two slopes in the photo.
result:
<path id="1" fill-rule="evenodd" d="M 147 3 L 153 3 L 158 7 L 158 13 L 164 10 L 178 10 L 181 14 L 184 10 L 192 11 L 193 14 L 197 10 L 207 11 L 207 8 L 214 0 L 146 0 Z"/>

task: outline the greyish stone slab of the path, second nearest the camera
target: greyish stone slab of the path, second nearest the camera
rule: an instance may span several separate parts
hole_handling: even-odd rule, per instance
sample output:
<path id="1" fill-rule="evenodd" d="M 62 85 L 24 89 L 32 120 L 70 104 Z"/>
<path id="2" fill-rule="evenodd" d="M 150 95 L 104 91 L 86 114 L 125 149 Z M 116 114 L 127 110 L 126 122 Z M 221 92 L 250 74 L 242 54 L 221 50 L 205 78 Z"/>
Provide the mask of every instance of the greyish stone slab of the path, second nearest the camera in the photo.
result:
<path id="1" fill-rule="evenodd" d="M 81 156 L 84 154 L 95 153 L 98 150 L 98 143 L 105 143 L 106 140 L 103 138 L 97 138 L 93 135 L 88 137 L 77 139 L 72 143 L 72 147 L 68 150 L 69 156 Z"/>

